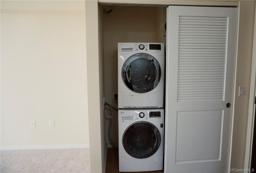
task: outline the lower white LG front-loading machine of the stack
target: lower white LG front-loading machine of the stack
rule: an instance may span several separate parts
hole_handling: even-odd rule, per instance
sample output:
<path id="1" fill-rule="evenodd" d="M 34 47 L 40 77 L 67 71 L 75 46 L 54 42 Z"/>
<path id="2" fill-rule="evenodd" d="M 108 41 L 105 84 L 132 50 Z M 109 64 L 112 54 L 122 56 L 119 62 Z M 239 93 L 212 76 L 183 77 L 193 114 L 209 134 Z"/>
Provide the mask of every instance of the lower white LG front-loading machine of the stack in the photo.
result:
<path id="1" fill-rule="evenodd" d="M 119 171 L 163 169 L 164 109 L 119 109 Z"/>

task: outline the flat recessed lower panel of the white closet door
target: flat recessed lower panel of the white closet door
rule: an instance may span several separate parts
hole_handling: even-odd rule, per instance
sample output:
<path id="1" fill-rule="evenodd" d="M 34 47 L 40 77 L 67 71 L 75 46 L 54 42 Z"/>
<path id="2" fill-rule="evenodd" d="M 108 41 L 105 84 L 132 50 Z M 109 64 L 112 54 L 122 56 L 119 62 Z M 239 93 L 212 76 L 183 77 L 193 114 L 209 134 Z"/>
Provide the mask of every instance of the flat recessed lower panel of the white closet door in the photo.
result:
<path id="1" fill-rule="evenodd" d="M 177 112 L 175 163 L 219 161 L 222 125 L 220 110 Z"/>

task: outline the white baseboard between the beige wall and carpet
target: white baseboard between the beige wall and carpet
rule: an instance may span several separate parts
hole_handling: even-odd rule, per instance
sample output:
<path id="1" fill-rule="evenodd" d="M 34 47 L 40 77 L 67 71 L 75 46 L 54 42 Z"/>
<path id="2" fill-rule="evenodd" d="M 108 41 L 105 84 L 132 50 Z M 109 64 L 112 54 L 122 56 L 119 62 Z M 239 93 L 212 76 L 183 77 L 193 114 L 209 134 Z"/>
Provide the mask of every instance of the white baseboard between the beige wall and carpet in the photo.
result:
<path id="1" fill-rule="evenodd" d="M 42 146 L 0 146 L 0 150 L 67 149 L 67 148 L 89 148 L 89 144 L 85 144 L 85 145 L 42 145 Z"/>

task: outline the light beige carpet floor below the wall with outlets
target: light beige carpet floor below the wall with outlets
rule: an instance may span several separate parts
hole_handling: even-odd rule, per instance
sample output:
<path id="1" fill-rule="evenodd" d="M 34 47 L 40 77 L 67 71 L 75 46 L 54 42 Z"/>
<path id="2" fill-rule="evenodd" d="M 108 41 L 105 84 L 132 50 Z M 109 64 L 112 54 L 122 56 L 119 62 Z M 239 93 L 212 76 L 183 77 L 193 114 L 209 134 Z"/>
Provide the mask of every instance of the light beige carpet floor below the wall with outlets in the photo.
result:
<path id="1" fill-rule="evenodd" d="M 89 149 L 2 150 L 1 173 L 89 173 Z"/>

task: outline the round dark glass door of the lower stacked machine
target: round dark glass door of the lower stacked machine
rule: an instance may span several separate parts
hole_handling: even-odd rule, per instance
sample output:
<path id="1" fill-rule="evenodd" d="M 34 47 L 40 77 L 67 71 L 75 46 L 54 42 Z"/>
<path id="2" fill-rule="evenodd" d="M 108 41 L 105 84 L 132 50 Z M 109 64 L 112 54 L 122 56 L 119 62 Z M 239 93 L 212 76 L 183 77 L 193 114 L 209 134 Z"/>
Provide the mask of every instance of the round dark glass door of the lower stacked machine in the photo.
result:
<path id="1" fill-rule="evenodd" d="M 155 154 L 161 135 L 155 125 L 140 121 L 130 125 L 123 135 L 124 150 L 134 158 L 148 158 Z"/>

